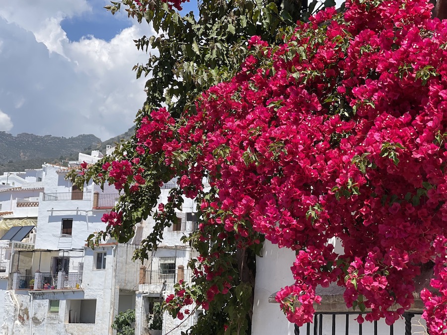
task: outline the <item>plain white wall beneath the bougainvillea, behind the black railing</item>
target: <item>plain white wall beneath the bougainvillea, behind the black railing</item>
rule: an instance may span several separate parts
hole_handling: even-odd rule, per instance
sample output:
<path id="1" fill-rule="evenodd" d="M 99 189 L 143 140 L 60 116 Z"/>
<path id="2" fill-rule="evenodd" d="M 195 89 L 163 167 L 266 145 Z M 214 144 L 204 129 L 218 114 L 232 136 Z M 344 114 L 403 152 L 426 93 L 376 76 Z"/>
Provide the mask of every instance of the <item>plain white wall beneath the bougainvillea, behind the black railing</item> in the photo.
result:
<path id="1" fill-rule="evenodd" d="M 342 247 L 339 241 L 330 241 L 335 244 L 335 251 L 342 252 Z M 269 241 L 266 241 L 262 250 L 262 257 L 256 258 L 256 284 L 254 292 L 254 308 L 253 308 L 253 335 L 294 335 L 295 325 L 291 324 L 284 313 L 280 310 L 280 306 L 276 302 L 269 302 L 269 297 L 274 295 L 281 288 L 292 285 L 295 280 L 292 275 L 290 267 L 295 261 L 295 252 L 290 249 L 279 249 L 277 245 L 273 245 Z M 320 294 L 323 298 L 333 302 L 329 305 L 315 306 L 323 312 L 347 312 L 343 303 L 343 290 L 335 285 L 327 289 L 317 288 L 317 294 Z M 324 300 L 324 299 L 323 299 Z M 270 299 L 272 301 L 272 299 Z M 340 309 L 340 306 L 342 308 Z M 351 310 L 352 312 L 352 310 Z M 420 311 L 417 313 L 421 313 Z M 268 316 L 268 317 L 266 317 Z M 349 316 L 349 334 L 363 334 L 373 335 L 374 325 L 369 322 L 365 322 L 362 325 L 362 333 L 359 333 L 359 324 L 354 320 L 357 315 Z M 318 319 L 319 320 L 319 319 Z M 335 317 L 336 331 L 335 335 L 346 335 L 346 315 L 337 315 Z M 411 335 L 427 334 L 425 332 L 425 322 L 421 319 L 420 315 L 416 315 L 412 320 Z M 314 329 L 315 324 L 310 324 L 310 334 L 322 334 L 332 335 L 332 315 L 323 315 L 320 326 L 318 325 Z M 393 326 L 394 334 L 406 334 L 405 322 L 400 319 L 395 322 Z M 299 328 L 299 334 L 307 334 L 307 325 Z M 376 334 L 391 334 L 390 328 L 384 322 L 380 320 L 377 322 Z"/>

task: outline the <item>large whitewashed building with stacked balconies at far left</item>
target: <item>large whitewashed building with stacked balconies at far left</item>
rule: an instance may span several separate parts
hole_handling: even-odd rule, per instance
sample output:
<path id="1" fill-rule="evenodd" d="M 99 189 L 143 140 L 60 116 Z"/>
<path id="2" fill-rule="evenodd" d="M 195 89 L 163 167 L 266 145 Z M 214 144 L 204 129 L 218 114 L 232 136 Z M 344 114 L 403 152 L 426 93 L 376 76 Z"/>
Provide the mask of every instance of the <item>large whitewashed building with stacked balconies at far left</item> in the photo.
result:
<path id="1" fill-rule="evenodd" d="M 77 163 L 101 157 L 80 154 Z M 102 191 L 93 183 L 80 190 L 65 179 L 68 170 L 50 164 L 41 170 L 41 188 L 33 199 L 38 204 L 33 208 L 35 243 L 26 249 L 14 242 L 10 252 L 5 271 L 10 275 L 0 287 L 0 334 L 116 334 L 111 328 L 115 316 L 135 308 L 136 245 L 108 241 L 95 250 L 85 246 L 90 234 L 105 228 L 101 217 L 119 194 L 113 186 Z M 2 193 L 20 191 L 24 194 L 0 190 L 0 203 L 6 203 Z"/>

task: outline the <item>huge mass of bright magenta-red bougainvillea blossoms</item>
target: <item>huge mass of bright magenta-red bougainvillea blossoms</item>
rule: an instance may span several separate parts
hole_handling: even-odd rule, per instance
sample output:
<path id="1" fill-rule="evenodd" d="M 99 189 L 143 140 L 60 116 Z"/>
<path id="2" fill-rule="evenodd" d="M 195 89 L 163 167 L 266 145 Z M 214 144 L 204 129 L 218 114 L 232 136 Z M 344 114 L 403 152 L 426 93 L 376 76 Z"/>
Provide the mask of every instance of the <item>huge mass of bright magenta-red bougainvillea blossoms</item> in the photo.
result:
<path id="1" fill-rule="evenodd" d="M 178 120 L 148 113 L 134 151 L 94 170 L 134 186 L 134 200 L 179 176 L 157 214 L 165 225 L 182 194 L 197 199 L 199 230 L 186 241 L 201 256 L 190 264 L 195 283 L 167 301 L 173 315 L 228 294 L 235 274 L 225 255 L 256 251 L 265 237 L 297 254 L 295 283 L 277 295 L 291 322 L 310 321 L 316 286 L 336 282 L 347 307 L 392 324 L 414 303 L 421 269 L 434 267 L 421 298 L 430 334 L 444 334 L 447 22 L 431 9 L 351 0 L 343 13 L 329 8 L 291 27 L 283 44 L 254 36 L 232 80 Z M 116 222 L 132 206 L 141 203 L 117 207 L 109 233 L 124 229 Z M 343 254 L 327 243 L 333 237 Z"/>

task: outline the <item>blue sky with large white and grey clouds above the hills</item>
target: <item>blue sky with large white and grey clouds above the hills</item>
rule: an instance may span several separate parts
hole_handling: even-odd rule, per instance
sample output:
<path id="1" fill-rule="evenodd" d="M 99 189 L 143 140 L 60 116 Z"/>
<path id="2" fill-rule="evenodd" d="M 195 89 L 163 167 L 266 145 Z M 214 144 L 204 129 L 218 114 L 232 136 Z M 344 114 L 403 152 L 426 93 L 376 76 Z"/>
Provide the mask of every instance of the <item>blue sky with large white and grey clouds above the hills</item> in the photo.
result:
<path id="1" fill-rule="evenodd" d="M 133 125 L 146 92 L 132 67 L 148 59 L 133 40 L 155 32 L 125 11 L 111 15 L 109 3 L 2 1 L 0 131 L 107 140 Z M 184 3 L 190 10 L 197 0 Z"/>

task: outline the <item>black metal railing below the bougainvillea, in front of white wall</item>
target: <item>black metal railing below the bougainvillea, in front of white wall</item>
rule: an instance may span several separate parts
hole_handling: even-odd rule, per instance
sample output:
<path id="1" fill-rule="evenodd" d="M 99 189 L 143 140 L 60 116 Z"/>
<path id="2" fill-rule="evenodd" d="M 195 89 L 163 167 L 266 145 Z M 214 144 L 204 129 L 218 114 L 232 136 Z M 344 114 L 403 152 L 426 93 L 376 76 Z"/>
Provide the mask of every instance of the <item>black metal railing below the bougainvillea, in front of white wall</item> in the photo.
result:
<path id="1" fill-rule="evenodd" d="M 327 312 L 327 313 L 316 313 L 313 318 L 313 323 L 308 323 L 305 326 L 298 327 L 295 325 L 295 335 L 363 335 L 373 334 L 373 335 L 413 335 L 413 334 L 427 334 L 427 330 L 424 325 L 412 324 L 412 320 L 420 314 L 404 313 L 405 325 L 401 327 L 395 327 L 394 325 L 385 326 L 380 325 L 380 332 L 378 327 L 378 322 L 373 321 L 373 323 L 365 322 L 359 324 L 357 321 L 351 320 L 354 317 L 359 316 L 360 313 L 343 313 L 343 312 Z M 344 322 L 340 322 L 340 319 L 345 319 Z M 339 321 L 337 323 L 337 320 Z M 421 327 L 423 329 L 412 330 L 415 327 Z M 383 328 L 387 327 L 388 330 L 384 333 Z M 324 330 L 324 332 L 323 332 Z"/>

